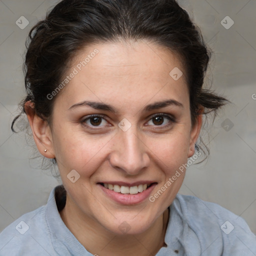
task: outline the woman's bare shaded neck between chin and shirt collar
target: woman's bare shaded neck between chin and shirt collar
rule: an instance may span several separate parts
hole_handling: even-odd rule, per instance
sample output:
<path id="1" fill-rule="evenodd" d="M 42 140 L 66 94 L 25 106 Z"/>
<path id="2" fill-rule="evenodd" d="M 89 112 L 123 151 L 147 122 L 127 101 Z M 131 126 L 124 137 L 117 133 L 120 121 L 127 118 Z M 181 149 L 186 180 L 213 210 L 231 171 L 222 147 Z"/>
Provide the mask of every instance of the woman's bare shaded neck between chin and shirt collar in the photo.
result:
<path id="1" fill-rule="evenodd" d="M 155 255 L 162 246 L 165 246 L 168 208 L 146 231 L 135 235 L 116 235 L 108 231 L 96 220 L 79 212 L 68 194 L 65 207 L 59 213 L 67 228 L 93 255 Z"/>

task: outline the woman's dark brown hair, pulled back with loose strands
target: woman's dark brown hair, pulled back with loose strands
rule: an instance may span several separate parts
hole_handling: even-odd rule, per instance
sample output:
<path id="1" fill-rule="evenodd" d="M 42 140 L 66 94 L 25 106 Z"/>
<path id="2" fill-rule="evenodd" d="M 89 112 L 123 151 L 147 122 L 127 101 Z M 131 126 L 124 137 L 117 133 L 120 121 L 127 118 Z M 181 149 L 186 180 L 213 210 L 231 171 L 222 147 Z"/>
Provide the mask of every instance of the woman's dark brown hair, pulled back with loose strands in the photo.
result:
<path id="1" fill-rule="evenodd" d="M 175 0 L 62 0 L 29 32 L 23 65 L 27 92 L 21 102 L 23 111 L 24 103 L 31 101 L 36 114 L 50 123 L 57 95 L 48 99 L 47 94 L 59 85 L 79 50 L 92 43 L 143 39 L 180 58 L 192 124 L 199 107 L 204 107 L 204 113 L 216 114 L 228 101 L 202 87 L 211 52 L 200 29 Z"/>

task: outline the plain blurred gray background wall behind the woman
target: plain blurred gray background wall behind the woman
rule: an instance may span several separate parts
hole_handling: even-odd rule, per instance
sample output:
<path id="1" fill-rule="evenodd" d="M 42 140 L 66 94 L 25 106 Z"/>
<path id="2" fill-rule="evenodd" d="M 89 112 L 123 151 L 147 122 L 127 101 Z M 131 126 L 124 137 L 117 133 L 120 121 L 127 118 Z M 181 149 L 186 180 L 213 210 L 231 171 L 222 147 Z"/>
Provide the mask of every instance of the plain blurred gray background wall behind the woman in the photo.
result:
<path id="1" fill-rule="evenodd" d="M 25 38 L 56 2 L 0 0 L 0 230 L 45 204 L 50 190 L 60 183 L 49 170 L 40 169 L 42 159 L 29 160 L 33 148 L 24 133 L 10 131 L 17 103 L 24 96 Z M 256 233 L 256 100 L 252 98 L 256 93 L 256 1 L 179 2 L 214 51 L 206 84 L 212 81 L 212 89 L 233 102 L 219 112 L 209 137 L 205 133 L 210 156 L 187 169 L 180 193 L 220 204 L 243 217 Z M 24 29 L 15 24 L 20 16 L 29 21 Z M 225 16 L 234 21 L 229 29 L 221 24 Z M 22 125 L 26 124 L 20 120 L 16 128 Z"/>

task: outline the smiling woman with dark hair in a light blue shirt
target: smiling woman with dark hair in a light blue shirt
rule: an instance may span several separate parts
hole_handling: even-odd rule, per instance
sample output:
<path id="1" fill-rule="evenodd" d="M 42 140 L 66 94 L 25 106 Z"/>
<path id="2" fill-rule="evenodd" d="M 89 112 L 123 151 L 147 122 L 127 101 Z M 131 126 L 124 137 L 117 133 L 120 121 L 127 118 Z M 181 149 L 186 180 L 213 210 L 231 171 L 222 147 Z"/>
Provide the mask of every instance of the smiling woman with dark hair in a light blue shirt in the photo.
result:
<path id="1" fill-rule="evenodd" d="M 256 255 L 243 219 L 177 194 L 227 100 L 202 88 L 210 53 L 176 1 L 63 0 L 29 39 L 22 106 L 63 185 L 0 255 Z"/>

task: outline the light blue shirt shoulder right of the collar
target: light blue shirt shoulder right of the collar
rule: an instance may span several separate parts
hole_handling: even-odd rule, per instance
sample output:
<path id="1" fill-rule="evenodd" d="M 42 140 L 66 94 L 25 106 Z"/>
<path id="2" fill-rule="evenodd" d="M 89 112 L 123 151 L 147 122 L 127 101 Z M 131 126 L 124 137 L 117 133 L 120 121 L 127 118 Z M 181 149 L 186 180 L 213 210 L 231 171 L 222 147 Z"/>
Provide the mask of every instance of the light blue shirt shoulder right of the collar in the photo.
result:
<path id="1" fill-rule="evenodd" d="M 210 247 L 219 246 L 220 255 L 256 255 L 255 234 L 243 218 L 226 208 L 182 194 L 176 195 L 171 207 L 208 253 Z"/>

